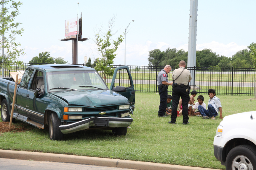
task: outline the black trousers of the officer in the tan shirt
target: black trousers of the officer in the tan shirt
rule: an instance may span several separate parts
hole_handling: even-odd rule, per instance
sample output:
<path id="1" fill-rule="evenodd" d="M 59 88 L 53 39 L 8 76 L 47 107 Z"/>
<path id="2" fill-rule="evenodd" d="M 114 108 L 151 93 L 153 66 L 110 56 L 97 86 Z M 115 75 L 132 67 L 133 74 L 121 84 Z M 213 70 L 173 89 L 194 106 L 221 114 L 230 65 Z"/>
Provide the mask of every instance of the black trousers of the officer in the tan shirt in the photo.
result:
<path id="1" fill-rule="evenodd" d="M 175 88 L 172 88 L 172 115 L 171 122 L 175 123 L 177 118 L 177 108 L 179 105 L 180 97 L 182 99 L 182 115 L 183 123 L 188 122 L 188 102 L 189 94 L 186 91 L 186 86 L 177 85 Z M 167 99 L 166 99 L 167 100 Z"/>

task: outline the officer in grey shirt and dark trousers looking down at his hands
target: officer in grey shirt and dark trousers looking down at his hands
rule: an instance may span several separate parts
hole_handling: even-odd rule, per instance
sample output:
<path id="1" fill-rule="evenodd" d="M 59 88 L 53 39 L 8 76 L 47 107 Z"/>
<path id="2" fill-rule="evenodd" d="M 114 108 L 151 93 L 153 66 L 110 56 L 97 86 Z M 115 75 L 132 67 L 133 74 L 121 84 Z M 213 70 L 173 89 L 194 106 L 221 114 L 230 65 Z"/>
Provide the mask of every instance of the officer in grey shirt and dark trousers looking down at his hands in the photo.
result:
<path id="1" fill-rule="evenodd" d="M 166 65 L 163 70 L 158 73 L 157 76 L 157 87 L 160 95 L 160 105 L 158 116 L 165 117 L 165 109 L 167 107 L 167 94 L 168 94 L 168 86 L 172 85 L 172 83 L 168 82 L 168 73 L 172 70 L 170 65 Z"/>

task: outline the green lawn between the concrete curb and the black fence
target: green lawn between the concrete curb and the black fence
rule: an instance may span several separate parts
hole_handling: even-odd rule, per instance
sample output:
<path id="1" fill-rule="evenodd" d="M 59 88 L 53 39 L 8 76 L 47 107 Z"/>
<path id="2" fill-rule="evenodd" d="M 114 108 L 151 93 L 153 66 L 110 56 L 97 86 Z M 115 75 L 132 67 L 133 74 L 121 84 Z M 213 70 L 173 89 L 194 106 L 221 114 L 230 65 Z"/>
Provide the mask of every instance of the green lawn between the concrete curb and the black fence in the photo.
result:
<path id="1" fill-rule="evenodd" d="M 208 95 L 203 96 L 208 104 Z M 248 96 L 218 97 L 223 117 L 256 110 L 256 100 L 250 104 Z M 172 125 L 168 123 L 170 117 L 157 116 L 159 100 L 159 94 L 136 92 L 134 122 L 126 136 L 113 136 L 108 130 L 88 130 L 66 134 L 63 141 L 52 141 L 48 128 L 42 130 L 25 124 L 25 132 L 2 133 L 0 149 L 225 169 L 213 152 L 213 139 L 221 120 L 190 117 L 190 124 L 183 125 L 181 116 Z"/>

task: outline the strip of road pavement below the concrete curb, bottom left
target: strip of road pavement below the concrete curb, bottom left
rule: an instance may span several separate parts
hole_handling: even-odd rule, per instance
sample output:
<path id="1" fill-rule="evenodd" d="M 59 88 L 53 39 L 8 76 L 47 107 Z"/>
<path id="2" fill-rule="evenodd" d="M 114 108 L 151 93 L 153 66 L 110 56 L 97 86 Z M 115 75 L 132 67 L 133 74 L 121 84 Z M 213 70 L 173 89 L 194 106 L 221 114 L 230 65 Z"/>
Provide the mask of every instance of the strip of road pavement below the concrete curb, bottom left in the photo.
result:
<path id="1" fill-rule="evenodd" d="M 107 166 L 0 158 L 0 170 L 131 170 Z"/>

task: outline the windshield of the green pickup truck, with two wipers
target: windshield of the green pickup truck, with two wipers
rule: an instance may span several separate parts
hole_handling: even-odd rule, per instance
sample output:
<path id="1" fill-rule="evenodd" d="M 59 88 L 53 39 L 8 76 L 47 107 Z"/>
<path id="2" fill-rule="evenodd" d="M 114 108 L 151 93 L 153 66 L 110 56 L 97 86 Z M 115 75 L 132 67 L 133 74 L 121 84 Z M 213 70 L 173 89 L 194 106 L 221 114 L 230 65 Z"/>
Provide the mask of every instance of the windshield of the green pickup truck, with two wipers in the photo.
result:
<path id="1" fill-rule="evenodd" d="M 47 73 L 48 90 L 108 89 L 97 71 L 55 71 Z M 61 87 L 61 88 L 60 88 Z M 94 88 L 95 87 L 95 88 Z"/>

